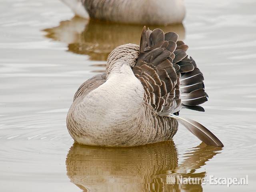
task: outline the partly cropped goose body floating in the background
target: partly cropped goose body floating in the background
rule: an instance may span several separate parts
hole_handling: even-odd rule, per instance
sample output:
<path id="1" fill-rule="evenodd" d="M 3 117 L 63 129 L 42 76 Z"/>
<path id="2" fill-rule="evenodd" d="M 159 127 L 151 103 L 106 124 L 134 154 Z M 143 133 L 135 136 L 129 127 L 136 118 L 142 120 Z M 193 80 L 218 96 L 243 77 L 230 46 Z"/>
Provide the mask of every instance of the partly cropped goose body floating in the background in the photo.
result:
<path id="1" fill-rule="evenodd" d="M 168 25 L 185 17 L 184 0 L 62 0 L 77 16 L 129 24 Z"/>

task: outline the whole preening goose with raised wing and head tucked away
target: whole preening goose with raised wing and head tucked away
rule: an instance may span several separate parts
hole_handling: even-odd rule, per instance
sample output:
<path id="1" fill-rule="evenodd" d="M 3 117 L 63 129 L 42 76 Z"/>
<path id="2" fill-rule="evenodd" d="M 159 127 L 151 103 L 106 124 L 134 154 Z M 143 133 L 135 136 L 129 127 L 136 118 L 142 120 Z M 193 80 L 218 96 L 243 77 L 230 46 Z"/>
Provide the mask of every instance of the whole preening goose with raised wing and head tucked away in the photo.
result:
<path id="1" fill-rule="evenodd" d="M 94 146 L 139 146 L 171 140 L 178 122 L 204 143 L 223 146 L 212 132 L 182 118 L 181 108 L 203 110 L 203 75 L 174 32 L 144 27 L 140 46 L 125 44 L 108 56 L 106 73 L 84 82 L 67 115 L 72 138 Z"/>

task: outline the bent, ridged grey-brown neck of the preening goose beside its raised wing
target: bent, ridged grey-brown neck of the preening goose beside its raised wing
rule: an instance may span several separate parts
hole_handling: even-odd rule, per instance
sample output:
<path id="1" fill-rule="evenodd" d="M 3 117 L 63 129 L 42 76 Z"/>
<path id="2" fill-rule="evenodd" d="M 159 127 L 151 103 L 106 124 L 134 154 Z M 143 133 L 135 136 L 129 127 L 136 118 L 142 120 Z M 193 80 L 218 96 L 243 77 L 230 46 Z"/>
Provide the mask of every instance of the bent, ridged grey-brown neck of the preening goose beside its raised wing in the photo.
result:
<path id="1" fill-rule="evenodd" d="M 136 44 L 124 44 L 116 47 L 108 56 L 106 64 L 106 76 L 121 66 L 134 67 L 139 56 L 139 46 Z"/>

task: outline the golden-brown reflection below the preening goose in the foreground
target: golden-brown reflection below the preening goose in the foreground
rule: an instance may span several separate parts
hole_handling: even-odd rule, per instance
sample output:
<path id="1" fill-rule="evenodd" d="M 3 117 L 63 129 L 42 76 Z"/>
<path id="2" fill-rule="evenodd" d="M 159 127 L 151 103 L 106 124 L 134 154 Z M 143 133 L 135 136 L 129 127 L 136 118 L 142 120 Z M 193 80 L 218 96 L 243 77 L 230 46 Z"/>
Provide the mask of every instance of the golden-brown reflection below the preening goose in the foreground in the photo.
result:
<path id="1" fill-rule="evenodd" d="M 103 148 L 77 143 L 66 158 L 67 175 L 84 191 L 202 191 L 199 185 L 166 184 L 166 175 L 204 178 L 194 173 L 221 148 L 200 144 L 178 163 L 174 142 L 131 148 Z"/>

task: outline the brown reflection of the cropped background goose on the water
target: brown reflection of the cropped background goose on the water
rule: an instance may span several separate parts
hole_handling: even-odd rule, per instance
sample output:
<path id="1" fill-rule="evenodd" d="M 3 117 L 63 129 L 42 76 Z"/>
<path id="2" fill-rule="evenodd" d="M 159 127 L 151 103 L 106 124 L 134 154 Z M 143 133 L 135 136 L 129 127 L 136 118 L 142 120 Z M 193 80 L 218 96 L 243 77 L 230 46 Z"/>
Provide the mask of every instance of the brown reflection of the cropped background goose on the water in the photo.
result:
<path id="1" fill-rule="evenodd" d="M 183 40 L 185 29 L 182 24 L 172 26 L 148 26 L 161 28 L 164 32 L 176 32 Z M 62 21 L 54 28 L 48 28 L 46 37 L 68 44 L 68 51 L 90 56 L 90 60 L 106 60 L 116 46 L 139 44 L 142 25 L 127 25 L 85 20 L 74 17 Z"/>

